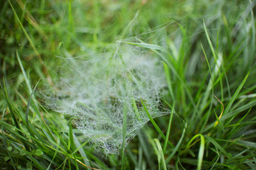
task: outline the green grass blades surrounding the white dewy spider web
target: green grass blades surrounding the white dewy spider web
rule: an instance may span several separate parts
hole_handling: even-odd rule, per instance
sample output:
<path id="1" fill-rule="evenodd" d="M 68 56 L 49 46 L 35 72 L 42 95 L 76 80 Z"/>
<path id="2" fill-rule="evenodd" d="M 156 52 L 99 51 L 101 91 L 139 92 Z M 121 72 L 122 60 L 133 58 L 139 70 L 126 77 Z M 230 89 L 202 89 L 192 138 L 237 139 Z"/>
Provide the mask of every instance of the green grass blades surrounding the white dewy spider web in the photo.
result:
<path id="1" fill-rule="evenodd" d="M 1 169 L 256 168 L 255 1 L 0 4 Z M 35 94 L 53 86 L 55 56 L 88 55 L 116 40 L 163 61 L 170 115 L 153 119 L 145 101 L 126 101 L 138 118 L 141 104 L 150 122 L 120 155 L 104 155 Z"/>

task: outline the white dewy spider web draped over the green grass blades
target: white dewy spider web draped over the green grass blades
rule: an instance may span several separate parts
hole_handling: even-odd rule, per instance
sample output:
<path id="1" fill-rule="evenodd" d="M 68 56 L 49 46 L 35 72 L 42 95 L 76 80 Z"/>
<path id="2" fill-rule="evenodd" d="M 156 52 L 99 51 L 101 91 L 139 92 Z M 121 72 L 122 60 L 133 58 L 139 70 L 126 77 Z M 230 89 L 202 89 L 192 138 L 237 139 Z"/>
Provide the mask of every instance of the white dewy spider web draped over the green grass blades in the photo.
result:
<path id="1" fill-rule="evenodd" d="M 168 113 L 161 107 L 161 97 L 166 93 L 163 66 L 145 48 L 116 41 L 108 52 L 61 60 L 65 64 L 60 67 L 55 90 L 41 92 L 45 105 L 70 115 L 100 152 L 119 153 L 122 147 L 124 103 L 125 146 L 149 120 L 141 100 L 153 118 Z"/>

